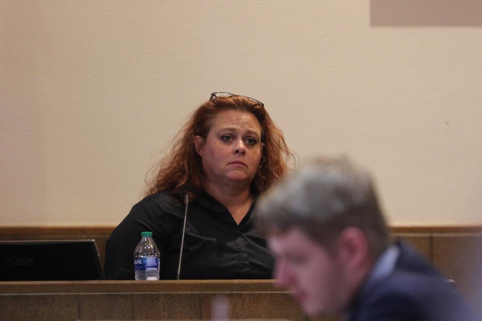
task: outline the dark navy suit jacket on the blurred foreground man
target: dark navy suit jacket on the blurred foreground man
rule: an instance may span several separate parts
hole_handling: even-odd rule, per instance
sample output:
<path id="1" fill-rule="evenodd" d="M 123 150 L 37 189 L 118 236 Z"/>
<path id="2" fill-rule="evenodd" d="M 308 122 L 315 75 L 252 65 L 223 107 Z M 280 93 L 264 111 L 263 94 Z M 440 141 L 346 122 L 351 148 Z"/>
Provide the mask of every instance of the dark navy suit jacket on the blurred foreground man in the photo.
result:
<path id="1" fill-rule="evenodd" d="M 392 274 L 362 287 L 349 321 L 472 321 L 476 318 L 455 289 L 417 252 L 397 242 Z"/>

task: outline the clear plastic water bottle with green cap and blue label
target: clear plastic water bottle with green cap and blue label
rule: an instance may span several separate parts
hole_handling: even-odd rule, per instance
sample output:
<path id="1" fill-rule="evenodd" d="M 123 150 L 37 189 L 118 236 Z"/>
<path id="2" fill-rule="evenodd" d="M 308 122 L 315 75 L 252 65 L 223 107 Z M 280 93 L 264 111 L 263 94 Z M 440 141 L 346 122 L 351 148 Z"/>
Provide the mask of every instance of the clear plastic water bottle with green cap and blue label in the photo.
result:
<path id="1" fill-rule="evenodd" d="M 152 232 L 142 232 L 141 241 L 134 251 L 136 280 L 159 280 L 159 249 L 152 239 Z"/>

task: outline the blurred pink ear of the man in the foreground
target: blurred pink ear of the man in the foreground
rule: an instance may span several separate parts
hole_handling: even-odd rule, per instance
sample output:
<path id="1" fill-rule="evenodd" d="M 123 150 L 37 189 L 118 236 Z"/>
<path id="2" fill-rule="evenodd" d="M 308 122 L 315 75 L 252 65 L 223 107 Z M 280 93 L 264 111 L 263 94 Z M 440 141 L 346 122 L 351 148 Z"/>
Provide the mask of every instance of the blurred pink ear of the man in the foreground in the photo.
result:
<path id="1" fill-rule="evenodd" d="M 368 237 L 356 227 L 347 227 L 341 231 L 337 247 L 338 259 L 350 269 L 360 269 L 371 260 Z"/>

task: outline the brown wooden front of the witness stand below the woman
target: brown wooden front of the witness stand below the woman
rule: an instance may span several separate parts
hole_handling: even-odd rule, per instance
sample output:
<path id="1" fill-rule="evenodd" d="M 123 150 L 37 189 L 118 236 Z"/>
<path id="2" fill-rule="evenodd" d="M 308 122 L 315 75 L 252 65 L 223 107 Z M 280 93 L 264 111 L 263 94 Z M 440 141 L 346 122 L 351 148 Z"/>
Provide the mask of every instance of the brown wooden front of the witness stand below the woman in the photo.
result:
<path id="1" fill-rule="evenodd" d="M 38 293 L 47 288 L 54 292 L 77 289 L 77 293 Z M 92 289 L 99 292 L 92 293 Z M 100 292 L 102 289 L 105 292 Z M 17 294 L 21 291 L 28 294 Z M 289 293 L 275 289 L 272 280 L 0 282 L 0 292 L 8 293 L 0 295 L 1 307 L 15 302 L 15 308 L 3 314 L 2 319 L 8 320 L 24 306 L 34 306 L 35 313 L 19 314 L 23 317 L 20 319 L 29 319 L 29 315 L 38 316 L 32 319 L 62 320 L 211 319 L 212 302 L 219 298 L 227 302 L 232 319 L 305 319 L 295 300 Z M 52 297 L 68 297 L 69 301 L 55 301 Z M 51 309 L 60 317 L 49 318 L 57 315 L 45 312 Z M 66 311 L 70 314 L 66 315 Z"/>

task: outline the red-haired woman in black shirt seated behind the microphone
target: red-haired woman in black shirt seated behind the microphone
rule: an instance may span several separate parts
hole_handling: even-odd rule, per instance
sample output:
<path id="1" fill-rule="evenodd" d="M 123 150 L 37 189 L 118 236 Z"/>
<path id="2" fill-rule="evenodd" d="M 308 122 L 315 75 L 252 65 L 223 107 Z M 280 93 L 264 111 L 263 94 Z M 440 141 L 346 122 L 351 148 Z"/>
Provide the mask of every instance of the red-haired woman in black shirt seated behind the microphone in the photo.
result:
<path id="1" fill-rule="evenodd" d="M 176 277 L 186 196 L 182 279 L 271 278 L 273 257 L 252 212 L 292 159 L 262 102 L 212 93 L 175 136 L 147 196 L 107 240 L 106 278 L 134 279 L 134 250 L 144 231 L 153 232 L 161 252 L 160 278 Z"/>

